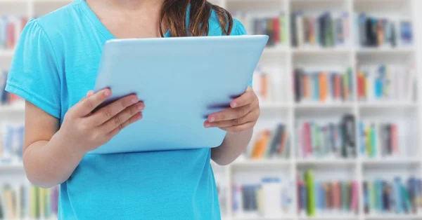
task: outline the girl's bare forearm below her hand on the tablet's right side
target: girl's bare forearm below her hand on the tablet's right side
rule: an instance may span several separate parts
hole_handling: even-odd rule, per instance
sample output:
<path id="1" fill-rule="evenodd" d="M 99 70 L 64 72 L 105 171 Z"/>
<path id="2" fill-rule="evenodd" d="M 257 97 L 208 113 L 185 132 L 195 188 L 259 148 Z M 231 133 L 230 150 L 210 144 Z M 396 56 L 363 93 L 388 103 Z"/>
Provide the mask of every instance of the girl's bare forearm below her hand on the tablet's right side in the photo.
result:
<path id="1" fill-rule="evenodd" d="M 211 150 L 211 159 L 218 165 L 229 165 L 245 151 L 252 138 L 252 132 L 253 129 L 237 133 L 228 132 L 222 145 Z"/>

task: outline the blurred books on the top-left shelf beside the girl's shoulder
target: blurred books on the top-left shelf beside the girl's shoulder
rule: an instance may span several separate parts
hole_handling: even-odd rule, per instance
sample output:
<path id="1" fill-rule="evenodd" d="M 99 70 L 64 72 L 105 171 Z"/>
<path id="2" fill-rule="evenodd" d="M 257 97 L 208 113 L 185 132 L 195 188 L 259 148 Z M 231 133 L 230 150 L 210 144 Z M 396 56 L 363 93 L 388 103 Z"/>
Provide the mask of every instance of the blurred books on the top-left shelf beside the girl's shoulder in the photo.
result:
<path id="1" fill-rule="evenodd" d="M 0 50 L 15 48 L 27 22 L 28 19 L 25 17 L 0 18 Z"/>

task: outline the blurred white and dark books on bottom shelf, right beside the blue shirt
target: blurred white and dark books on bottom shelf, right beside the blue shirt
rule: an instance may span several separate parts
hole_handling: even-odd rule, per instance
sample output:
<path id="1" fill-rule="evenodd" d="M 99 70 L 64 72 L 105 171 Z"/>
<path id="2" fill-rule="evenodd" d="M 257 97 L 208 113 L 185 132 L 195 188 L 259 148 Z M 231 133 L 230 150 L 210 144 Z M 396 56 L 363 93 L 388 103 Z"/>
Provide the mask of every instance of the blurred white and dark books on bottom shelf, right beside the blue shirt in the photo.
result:
<path id="1" fill-rule="evenodd" d="M 233 212 L 265 217 L 291 214 L 293 183 L 279 177 L 263 178 L 258 184 L 233 186 Z"/>

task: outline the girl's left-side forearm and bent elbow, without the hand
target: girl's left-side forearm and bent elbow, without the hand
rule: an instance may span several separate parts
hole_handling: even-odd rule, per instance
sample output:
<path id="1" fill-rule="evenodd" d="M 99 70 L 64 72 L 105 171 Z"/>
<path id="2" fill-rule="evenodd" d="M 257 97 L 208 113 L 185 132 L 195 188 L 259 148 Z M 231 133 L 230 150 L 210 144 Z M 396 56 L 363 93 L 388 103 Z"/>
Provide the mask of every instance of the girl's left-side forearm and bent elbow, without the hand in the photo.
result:
<path id="1" fill-rule="evenodd" d="M 27 178 L 40 187 L 50 188 L 69 179 L 84 153 L 63 142 L 60 131 L 50 141 L 39 141 L 27 147 L 23 163 Z"/>

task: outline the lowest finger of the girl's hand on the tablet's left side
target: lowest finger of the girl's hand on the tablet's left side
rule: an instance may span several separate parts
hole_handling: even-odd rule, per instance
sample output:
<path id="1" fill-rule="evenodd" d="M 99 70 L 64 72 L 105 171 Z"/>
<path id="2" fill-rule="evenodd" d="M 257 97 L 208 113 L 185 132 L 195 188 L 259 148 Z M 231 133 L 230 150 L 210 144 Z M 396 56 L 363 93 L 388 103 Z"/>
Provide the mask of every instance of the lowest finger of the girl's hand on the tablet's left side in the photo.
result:
<path id="1" fill-rule="evenodd" d="M 133 106 L 129 106 L 127 109 L 124 109 L 119 114 L 115 115 L 113 118 L 110 118 L 110 120 L 101 125 L 101 130 L 104 132 L 111 132 L 116 128 L 120 128 L 120 130 L 122 130 L 124 123 L 129 120 L 129 118 L 132 118 L 132 116 L 139 114 L 141 109 L 143 109 L 142 102 L 139 104 L 134 104 Z"/>

